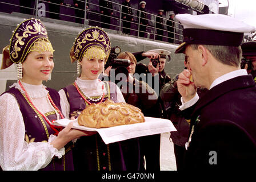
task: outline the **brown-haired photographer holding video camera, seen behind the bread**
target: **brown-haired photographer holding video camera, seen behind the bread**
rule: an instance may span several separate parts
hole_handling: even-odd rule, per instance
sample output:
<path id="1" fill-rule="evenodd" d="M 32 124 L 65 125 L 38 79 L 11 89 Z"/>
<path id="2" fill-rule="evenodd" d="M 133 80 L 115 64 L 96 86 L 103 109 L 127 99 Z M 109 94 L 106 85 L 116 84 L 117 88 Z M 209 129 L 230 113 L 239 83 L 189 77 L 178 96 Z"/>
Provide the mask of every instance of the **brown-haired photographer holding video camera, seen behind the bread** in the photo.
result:
<path id="1" fill-rule="evenodd" d="M 143 114 L 147 116 L 147 111 L 151 106 L 155 105 L 157 102 L 157 93 L 148 85 L 144 80 L 139 81 L 134 77 L 135 69 L 137 67 L 137 59 L 131 52 L 121 52 L 121 48 L 115 46 L 111 48 L 109 59 L 105 65 L 105 77 L 102 79 L 110 79 L 110 81 L 115 82 L 115 84 L 121 86 L 121 91 L 125 100 L 128 104 L 139 107 Z M 120 53 L 120 54 L 119 54 Z M 142 53 L 141 53 L 142 54 Z M 145 55 L 151 57 L 157 57 L 155 54 L 146 53 Z M 119 78 L 119 73 L 125 75 L 125 79 L 117 80 Z M 114 75 L 111 75 L 114 74 Z M 106 76 L 108 78 L 106 78 Z M 102 76 L 101 76 L 102 77 Z M 113 77 L 115 80 L 113 80 Z M 120 76 L 123 78 L 122 76 Z M 120 84 L 122 82 L 122 84 Z M 139 87 L 135 89 L 135 87 Z M 135 93 L 136 92 L 136 93 Z M 136 96 L 132 96 L 135 94 Z M 151 97 L 150 97 L 151 96 Z M 128 99 L 129 97 L 139 97 L 134 100 Z M 138 103 L 141 101 L 141 103 Z M 149 103 L 146 103 L 150 101 Z"/>

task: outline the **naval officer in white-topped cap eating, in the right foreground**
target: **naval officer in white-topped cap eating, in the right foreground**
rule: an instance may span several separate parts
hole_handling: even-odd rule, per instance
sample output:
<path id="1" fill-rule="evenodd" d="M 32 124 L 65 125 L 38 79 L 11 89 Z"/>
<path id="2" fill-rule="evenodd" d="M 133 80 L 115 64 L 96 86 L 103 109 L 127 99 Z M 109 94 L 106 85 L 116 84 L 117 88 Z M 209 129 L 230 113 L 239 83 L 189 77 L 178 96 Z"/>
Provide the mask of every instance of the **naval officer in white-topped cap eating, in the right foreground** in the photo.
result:
<path id="1" fill-rule="evenodd" d="M 256 163 L 256 87 L 240 68 L 240 45 L 244 32 L 256 28 L 222 14 L 176 18 L 185 39 L 175 53 L 187 60 L 177 81 L 179 109 L 191 119 L 185 169 L 250 171 Z M 209 91 L 199 98 L 198 87 Z"/>

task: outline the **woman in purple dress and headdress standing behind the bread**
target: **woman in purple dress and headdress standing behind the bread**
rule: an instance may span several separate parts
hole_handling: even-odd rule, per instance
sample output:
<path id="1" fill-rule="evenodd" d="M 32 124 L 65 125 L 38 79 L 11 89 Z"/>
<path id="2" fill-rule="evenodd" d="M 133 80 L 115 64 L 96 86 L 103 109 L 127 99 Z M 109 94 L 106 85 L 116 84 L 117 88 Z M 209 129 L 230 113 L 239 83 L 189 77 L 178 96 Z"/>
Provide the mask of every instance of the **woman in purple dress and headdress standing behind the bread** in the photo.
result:
<path id="1" fill-rule="evenodd" d="M 92 103 L 100 104 L 106 99 L 125 102 L 114 82 L 98 79 L 109 57 L 110 44 L 106 32 L 97 27 L 83 30 L 75 39 L 70 59 L 71 63 L 77 60 L 79 76 L 73 84 L 59 90 L 65 103 L 62 107 L 69 118 L 77 118 Z M 78 171 L 126 170 L 121 142 L 105 144 L 98 133 L 79 138 L 73 149 L 73 158 L 74 169 Z"/>

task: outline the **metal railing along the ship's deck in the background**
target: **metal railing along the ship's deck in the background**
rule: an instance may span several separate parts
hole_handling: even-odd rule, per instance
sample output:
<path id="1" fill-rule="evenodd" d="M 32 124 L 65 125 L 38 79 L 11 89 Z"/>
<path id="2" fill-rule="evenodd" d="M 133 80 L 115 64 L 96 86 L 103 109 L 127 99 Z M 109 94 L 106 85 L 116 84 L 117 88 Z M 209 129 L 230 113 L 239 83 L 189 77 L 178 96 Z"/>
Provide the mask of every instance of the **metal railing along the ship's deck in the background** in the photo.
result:
<path id="1" fill-rule="evenodd" d="M 78 0 L 78 1 L 80 1 L 80 0 Z M 18 0 L 17 0 L 17 2 L 18 2 Z M 114 30 L 116 30 L 115 28 L 118 28 L 119 34 L 121 34 L 122 28 L 126 28 L 127 30 L 131 30 L 133 32 L 135 31 L 135 36 L 138 36 L 138 37 L 139 37 L 139 32 L 144 32 L 146 34 L 150 33 L 151 35 L 153 35 L 153 40 L 155 40 L 156 36 L 161 36 L 162 38 L 165 38 L 165 39 L 167 38 L 167 41 L 168 41 L 169 37 L 166 36 L 165 34 L 169 34 L 169 32 L 173 33 L 173 35 L 174 35 L 173 36 L 173 39 L 174 39 L 173 43 L 180 43 L 182 41 L 182 39 L 183 39 L 183 35 L 182 35 L 182 31 L 183 30 L 182 30 L 182 28 L 179 28 L 179 27 L 182 27 L 182 25 L 180 23 L 174 21 L 174 23 L 175 23 L 174 27 L 168 26 L 166 23 L 167 23 L 167 21 L 171 21 L 171 20 L 169 20 L 169 19 L 167 19 L 165 17 L 158 16 L 158 15 L 151 14 L 151 13 L 147 13 L 147 12 L 135 9 L 133 7 L 129 7 L 129 9 L 131 9 L 133 11 L 133 14 L 130 15 L 130 14 L 122 12 L 123 7 L 125 7 L 124 5 L 116 3 L 116 2 L 112 2 L 112 1 L 109 1 L 109 2 L 111 2 L 113 6 L 119 7 L 119 9 L 118 8 L 116 8 L 116 9 L 109 9 L 108 7 L 99 6 L 99 5 L 97 5 L 97 4 L 93 3 L 93 2 L 88 2 L 87 0 L 80 1 L 80 2 L 84 3 L 84 5 L 85 5 L 85 7 L 83 9 L 81 9 L 81 7 L 80 8 L 79 7 L 75 7 L 74 5 L 70 6 L 67 3 L 66 4 L 64 3 L 63 5 L 59 5 L 57 3 L 47 2 L 47 0 L 36 0 L 34 8 L 33 7 L 25 7 L 25 6 L 15 5 L 14 3 L 3 2 L 2 0 L 0 0 L 0 6 L 1 6 L 1 4 L 5 4 L 5 5 L 10 5 L 10 6 L 23 7 L 24 9 L 35 10 L 35 13 L 33 12 L 33 15 L 35 16 L 35 18 L 38 18 L 38 10 L 40 10 L 39 7 L 38 7 L 39 3 L 45 3 L 45 5 L 47 5 L 47 6 L 49 6 L 51 4 L 51 5 L 56 5 L 56 6 L 60 6 L 60 7 L 63 7 L 63 8 L 68 8 L 68 9 L 73 10 L 73 11 L 75 11 L 75 10 L 83 11 L 84 16 L 83 16 L 83 18 L 81 18 L 81 17 L 75 16 L 74 14 L 70 14 L 71 11 L 65 11 L 65 14 L 62 14 L 62 13 L 60 13 L 60 11 L 58 13 L 56 13 L 56 12 L 51 12 L 50 10 L 44 10 L 45 13 L 58 14 L 58 15 L 61 15 L 63 17 L 67 17 L 67 18 L 78 18 L 78 19 L 81 19 L 81 20 L 84 21 L 83 27 L 86 27 L 86 20 L 89 20 L 91 23 L 94 22 L 94 23 L 105 23 L 105 24 L 108 24 L 109 26 L 112 26 L 114 28 Z M 89 5 L 89 9 L 86 9 L 86 5 Z M 94 10 L 91 10 L 90 6 L 93 6 Z M 99 9 L 101 7 L 104 8 L 104 9 L 108 9 L 108 10 L 113 11 L 113 16 L 109 16 L 109 15 L 105 15 L 105 14 L 104 14 L 104 16 L 112 18 L 113 21 L 117 21 L 117 23 L 106 23 L 106 22 L 101 22 L 101 20 L 98 20 L 98 19 L 95 20 L 93 18 L 90 18 L 90 14 L 91 15 L 96 15 L 96 16 L 101 16 L 102 14 L 98 10 L 95 10 L 95 8 Z M 139 11 L 139 16 L 137 16 L 137 12 L 138 11 Z M 142 12 L 147 14 L 148 18 L 146 20 L 149 21 L 149 25 L 146 25 L 146 24 L 142 25 L 142 26 L 146 27 L 146 31 L 140 30 L 141 20 L 145 19 L 145 18 L 141 18 L 141 13 Z M 122 14 L 133 16 L 134 20 L 133 21 L 129 21 L 129 20 L 126 20 L 126 19 L 122 19 Z M 162 18 L 163 19 L 163 23 L 157 22 L 156 21 L 157 17 Z M 130 28 L 129 27 L 123 27 L 122 26 L 122 22 L 130 22 L 131 23 Z M 163 29 L 162 28 L 158 28 L 156 26 L 157 23 L 158 24 L 162 24 L 163 27 L 166 26 L 167 29 L 168 29 L 168 27 L 172 27 L 172 28 L 174 28 L 174 31 L 168 31 L 165 28 L 163 28 Z M 162 30 L 163 31 L 163 35 L 158 35 L 157 34 L 157 30 Z M 131 36 L 133 36 L 133 35 L 131 35 Z"/>

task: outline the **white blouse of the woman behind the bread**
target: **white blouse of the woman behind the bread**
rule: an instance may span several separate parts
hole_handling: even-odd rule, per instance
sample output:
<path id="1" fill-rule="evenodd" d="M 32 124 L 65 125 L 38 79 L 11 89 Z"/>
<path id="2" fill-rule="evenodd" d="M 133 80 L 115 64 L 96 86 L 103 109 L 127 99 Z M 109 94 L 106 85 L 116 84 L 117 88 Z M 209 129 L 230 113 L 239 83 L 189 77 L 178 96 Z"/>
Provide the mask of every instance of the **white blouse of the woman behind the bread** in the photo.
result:
<path id="1" fill-rule="evenodd" d="M 75 80 L 77 83 L 79 89 L 82 90 L 86 96 L 93 97 L 93 96 L 101 96 L 102 95 L 102 84 L 103 82 L 95 79 L 95 80 L 82 80 L 81 78 L 77 78 Z M 125 98 L 123 98 L 123 94 L 121 90 L 118 88 L 117 85 L 116 90 L 117 90 L 117 102 L 125 102 Z M 107 93 L 107 88 L 104 85 L 104 92 L 105 94 Z M 59 96 L 61 96 L 61 108 L 63 111 L 63 114 L 65 115 L 66 118 L 69 118 L 69 101 L 67 101 L 67 97 L 65 94 L 65 91 L 63 89 L 59 90 Z"/>

